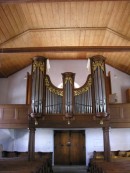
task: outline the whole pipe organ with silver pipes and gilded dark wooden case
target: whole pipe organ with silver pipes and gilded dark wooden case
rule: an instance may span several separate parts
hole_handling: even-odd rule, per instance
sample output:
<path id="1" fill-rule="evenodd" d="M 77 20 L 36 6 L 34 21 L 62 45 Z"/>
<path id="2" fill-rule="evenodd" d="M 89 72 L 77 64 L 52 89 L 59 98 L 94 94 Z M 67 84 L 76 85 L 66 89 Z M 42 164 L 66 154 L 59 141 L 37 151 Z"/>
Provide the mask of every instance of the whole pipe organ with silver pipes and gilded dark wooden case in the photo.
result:
<path id="1" fill-rule="evenodd" d="M 32 117 L 80 114 L 107 115 L 105 89 L 105 58 L 90 58 L 91 74 L 80 88 L 74 88 L 75 73 L 62 74 L 63 88 L 54 86 L 46 74 L 46 58 L 34 58 L 32 63 Z"/>

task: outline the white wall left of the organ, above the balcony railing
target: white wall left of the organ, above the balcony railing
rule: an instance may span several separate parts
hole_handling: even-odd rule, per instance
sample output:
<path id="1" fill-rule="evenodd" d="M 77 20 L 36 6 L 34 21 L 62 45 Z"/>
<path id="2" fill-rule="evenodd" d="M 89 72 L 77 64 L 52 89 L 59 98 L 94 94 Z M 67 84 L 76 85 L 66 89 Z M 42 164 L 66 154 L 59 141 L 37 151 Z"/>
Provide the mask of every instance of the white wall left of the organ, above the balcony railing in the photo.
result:
<path id="1" fill-rule="evenodd" d="M 31 72 L 31 66 L 0 79 L 0 104 L 25 104 L 26 103 L 26 79 L 27 72 Z"/>

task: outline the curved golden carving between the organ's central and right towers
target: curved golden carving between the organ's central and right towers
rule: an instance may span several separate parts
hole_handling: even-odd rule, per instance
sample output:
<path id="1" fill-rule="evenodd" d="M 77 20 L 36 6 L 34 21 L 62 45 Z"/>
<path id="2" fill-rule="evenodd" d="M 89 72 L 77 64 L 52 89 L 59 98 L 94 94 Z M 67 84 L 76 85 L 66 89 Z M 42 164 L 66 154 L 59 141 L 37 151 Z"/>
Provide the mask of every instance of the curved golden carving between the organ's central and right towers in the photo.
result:
<path id="1" fill-rule="evenodd" d="M 74 91 L 74 96 L 78 96 L 80 94 L 87 92 L 91 87 L 91 85 L 92 85 L 92 78 L 89 77 L 87 84 L 83 88 L 79 88 Z"/>

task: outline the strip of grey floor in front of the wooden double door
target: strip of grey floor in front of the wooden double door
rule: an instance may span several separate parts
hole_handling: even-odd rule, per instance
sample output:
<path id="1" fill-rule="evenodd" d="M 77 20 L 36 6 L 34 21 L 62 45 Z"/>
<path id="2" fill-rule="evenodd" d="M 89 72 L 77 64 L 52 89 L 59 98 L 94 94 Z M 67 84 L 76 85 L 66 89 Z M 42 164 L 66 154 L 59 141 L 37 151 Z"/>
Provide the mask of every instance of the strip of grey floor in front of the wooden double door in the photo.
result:
<path id="1" fill-rule="evenodd" d="M 53 166 L 54 173 L 87 173 L 86 166 Z"/>

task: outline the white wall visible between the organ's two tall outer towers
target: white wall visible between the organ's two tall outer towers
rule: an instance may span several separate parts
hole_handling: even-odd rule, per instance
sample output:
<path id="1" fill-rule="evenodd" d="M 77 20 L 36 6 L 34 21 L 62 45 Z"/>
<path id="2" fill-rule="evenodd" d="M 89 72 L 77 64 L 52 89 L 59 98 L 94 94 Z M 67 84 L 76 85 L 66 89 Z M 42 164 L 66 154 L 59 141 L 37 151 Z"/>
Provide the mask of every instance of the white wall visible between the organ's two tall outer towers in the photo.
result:
<path id="1" fill-rule="evenodd" d="M 62 73 L 75 73 L 75 82 L 82 86 L 88 76 L 87 60 L 50 60 L 49 76 L 52 83 L 58 86 L 62 83 Z"/>

